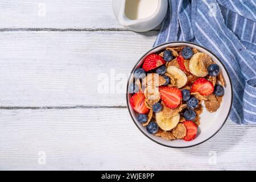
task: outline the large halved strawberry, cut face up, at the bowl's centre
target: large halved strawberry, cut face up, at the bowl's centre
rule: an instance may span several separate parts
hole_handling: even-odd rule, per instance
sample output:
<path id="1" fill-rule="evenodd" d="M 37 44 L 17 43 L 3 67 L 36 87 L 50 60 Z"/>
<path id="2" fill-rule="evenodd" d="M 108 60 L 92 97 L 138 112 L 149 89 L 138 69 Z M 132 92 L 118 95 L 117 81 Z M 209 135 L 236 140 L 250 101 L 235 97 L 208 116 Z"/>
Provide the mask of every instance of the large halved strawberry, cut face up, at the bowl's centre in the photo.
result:
<path id="1" fill-rule="evenodd" d="M 167 107 L 175 109 L 180 104 L 182 95 L 176 87 L 160 86 L 159 92 L 164 105 Z"/>

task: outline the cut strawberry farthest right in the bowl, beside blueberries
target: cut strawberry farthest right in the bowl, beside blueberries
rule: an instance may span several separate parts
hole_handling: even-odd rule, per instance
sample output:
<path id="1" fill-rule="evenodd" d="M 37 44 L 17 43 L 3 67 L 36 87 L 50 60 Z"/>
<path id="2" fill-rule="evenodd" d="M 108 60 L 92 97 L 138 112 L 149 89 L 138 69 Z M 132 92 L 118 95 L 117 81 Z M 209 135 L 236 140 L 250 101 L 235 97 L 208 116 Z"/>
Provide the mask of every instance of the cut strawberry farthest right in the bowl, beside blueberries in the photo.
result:
<path id="1" fill-rule="evenodd" d="M 212 82 L 208 81 L 205 78 L 197 78 L 191 86 L 191 92 L 199 92 L 202 96 L 209 96 L 212 94 L 214 86 Z"/>

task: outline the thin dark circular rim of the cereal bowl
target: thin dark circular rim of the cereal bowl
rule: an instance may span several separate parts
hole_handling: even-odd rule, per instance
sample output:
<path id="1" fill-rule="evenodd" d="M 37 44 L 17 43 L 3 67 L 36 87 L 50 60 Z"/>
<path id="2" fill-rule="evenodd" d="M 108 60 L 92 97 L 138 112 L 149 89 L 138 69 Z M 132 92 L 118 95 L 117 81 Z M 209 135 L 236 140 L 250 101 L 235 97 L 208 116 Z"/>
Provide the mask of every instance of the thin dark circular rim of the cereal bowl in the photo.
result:
<path id="1" fill-rule="evenodd" d="M 212 53 L 212 55 L 215 56 L 215 57 L 217 58 L 217 60 L 220 61 L 220 63 L 221 63 L 222 66 L 224 67 L 224 69 L 225 69 L 225 71 L 226 71 L 226 73 L 227 73 L 227 75 L 228 75 L 229 82 L 230 82 L 230 87 L 231 87 L 231 102 L 230 102 L 230 106 L 229 106 L 229 111 L 228 111 L 228 114 L 226 115 L 226 118 L 224 119 L 224 122 L 221 124 L 221 126 L 218 128 L 218 130 L 216 130 L 216 132 L 215 132 L 212 136 L 210 136 L 209 138 L 203 140 L 202 142 L 199 142 L 199 143 L 197 143 L 197 144 L 192 144 L 192 145 L 190 145 L 190 146 L 184 146 L 184 147 L 168 146 L 167 144 L 160 143 L 160 142 L 158 142 L 158 141 L 152 139 L 152 138 L 149 137 L 148 135 L 146 135 L 146 134 L 144 133 L 144 131 L 142 131 L 141 128 L 138 126 L 137 121 L 135 121 L 135 119 L 133 118 L 133 115 L 131 114 L 131 110 L 130 110 L 130 107 L 129 107 L 129 101 L 128 101 L 129 81 L 130 81 L 131 75 L 132 75 L 132 73 L 134 72 L 134 69 L 135 69 L 135 67 L 138 65 L 139 61 L 141 61 L 142 58 L 148 54 L 148 52 L 151 52 L 151 51 L 153 51 L 154 49 L 156 49 L 156 48 L 158 48 L 158 47 L 164 46 L 164 45 L 166 45 L 166 44 L 172 44 L 172 43 L 193 44 L 193 45 L 195 45 L 195 46 L 199 46 L 199 47 L 205 49 L 206 51 Z M 126 86 L 126 104 L 127 104 L 128 110 L 129 110 L 130 117 L 131 117 L 131 119 L 133 119 L 133 122 L 134 122 L 135 126 L 139 129 L 139 131 L 141 131 L 141 133 L 142 133 L 143 135 L 145 135 L 147 138 L 149 138 L 150 140 L 152 140 L 152 141 L 155 142 L 155 143 L 158 143 L 158 144 L 160 144 L 160 145 L 162 145 L 162 146 L 164 146 L 164 147 L 170 147 L 170 148 L 189 148 L 189 147 L 197 146 L 197 145 L 199 145 L 199 144 L 201 144 L 201 143 L 206 142 L 206 141 L 209 140 L 210 138 L 214 137 L 214 135 L 216 135 L 216 134 L 218 133 L 218 131 L 220 131 L 220 129 L 224 126 L 224 124 L 226 123 L 226 120 L 227 120 L 228 117 L 229 117 L 230 110 L 231 110 L 232 104 L 233 104 L 233 86 L 232 86 L 232 82 L 231 82 L 231 79 L 230 79 L 228 70 L 226 69 L 226 67 L 225 67 L 225 65 L 222 63 L 222 61 L 221 61 L 220 59 L 218 59 L 218 57 L 217 57 L 212 51 L 209 51 L 209 49 L 207 49 L 207 48 L 205 48 L 205 47 L 203 47 L 203 46 L 200 46 L 199 44 L 195 44 L 195 43 L 187 42 L 187 41 L 173 41 L 173 42 L 167 42 L 167 43 L 160 44 L 160 45 L 158 45 L 158 46 L 156 46 L 156 47 L 152 47 L 149 51 L 147 51 L 146 53 L 144 53 L 144 55 L 137 61 L 137 63 L 135 63 L 135 65 L 134 65 L 133 69 L 131 69 L 131 72 L 130 72 L 130 73 L 131 73 L 131 74 L 130 74 L 128 80 L 127 80 L 127 86 Z"/>

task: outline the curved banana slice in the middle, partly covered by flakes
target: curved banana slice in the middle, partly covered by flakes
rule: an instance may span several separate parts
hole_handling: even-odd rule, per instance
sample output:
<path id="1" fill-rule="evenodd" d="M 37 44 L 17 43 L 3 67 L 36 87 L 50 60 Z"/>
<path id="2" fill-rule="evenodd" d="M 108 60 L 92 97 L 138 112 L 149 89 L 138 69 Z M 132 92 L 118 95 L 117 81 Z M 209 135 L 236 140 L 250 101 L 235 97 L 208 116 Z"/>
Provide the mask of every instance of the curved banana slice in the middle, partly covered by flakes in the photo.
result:
<path id="1" fill-rule="evenodd" d="M 168 67 L 167 73 L 174 77 L 177 88 L 183 87 L 188 81 L 188 78 L 185 75 L 185 73 L 175 66 Z"/>

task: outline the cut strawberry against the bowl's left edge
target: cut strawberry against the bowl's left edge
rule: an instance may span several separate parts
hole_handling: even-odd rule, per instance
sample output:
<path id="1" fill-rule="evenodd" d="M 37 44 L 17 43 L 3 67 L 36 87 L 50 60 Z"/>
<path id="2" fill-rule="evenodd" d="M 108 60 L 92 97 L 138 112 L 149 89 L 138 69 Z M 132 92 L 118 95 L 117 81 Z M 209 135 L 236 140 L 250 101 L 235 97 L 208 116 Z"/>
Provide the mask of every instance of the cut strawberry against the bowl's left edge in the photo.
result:
<path id="1" fill-rule="evenodd" d="M 140 114 L 148 113 L 149 109 L 144 104 L 145 96 L 143 93 L 135 93 L 130 98 L 131 107 Z"/>

